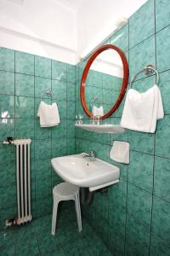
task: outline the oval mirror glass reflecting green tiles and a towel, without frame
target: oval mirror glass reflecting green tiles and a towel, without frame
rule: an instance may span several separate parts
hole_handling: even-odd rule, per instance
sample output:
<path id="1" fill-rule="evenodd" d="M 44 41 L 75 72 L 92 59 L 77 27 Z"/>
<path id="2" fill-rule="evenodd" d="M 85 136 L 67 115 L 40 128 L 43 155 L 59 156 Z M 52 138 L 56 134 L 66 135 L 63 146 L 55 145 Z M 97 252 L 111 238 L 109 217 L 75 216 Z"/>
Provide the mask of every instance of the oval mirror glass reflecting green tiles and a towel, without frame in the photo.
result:
<path id="1" fill-rule="evenodd" d="M 107 49 L 94 60 L 85 87 L 86 104 L 94 116 L 111 110 L 120 94 L 122 77 L 122 59 L 116 50 Z"/>

